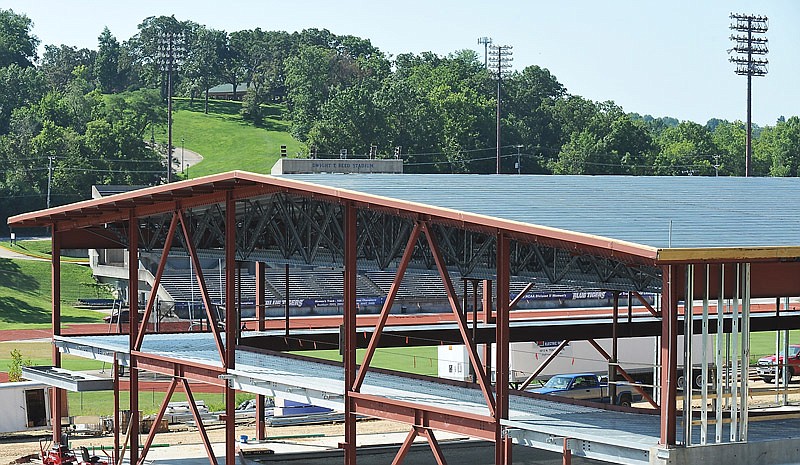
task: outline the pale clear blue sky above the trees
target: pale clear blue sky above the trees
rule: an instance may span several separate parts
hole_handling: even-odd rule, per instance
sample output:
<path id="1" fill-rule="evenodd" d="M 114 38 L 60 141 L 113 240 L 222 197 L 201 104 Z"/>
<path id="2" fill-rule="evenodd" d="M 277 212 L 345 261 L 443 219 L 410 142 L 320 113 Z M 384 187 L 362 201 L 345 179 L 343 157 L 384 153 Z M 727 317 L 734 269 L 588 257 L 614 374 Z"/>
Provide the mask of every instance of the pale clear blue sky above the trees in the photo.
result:
<path id="1" fill-rule="evenodd" d="M 548 68 L 570 93 L 625 111 L 705 123 L 744 120 L 746 78 L 727 49 L 731 12 L 769 17 L 769 74 L 754 78 L 753 120 L 800 115 L 797 0 L 5 0 L 42 44 L 97 48 L 104 26 L 122 42 L 148 16 L 175 15 L 228 32 L 325 28 L 367 38 L 383 52 L 447 54 L 481 36 L 514 47 L 514 66 Z"/>

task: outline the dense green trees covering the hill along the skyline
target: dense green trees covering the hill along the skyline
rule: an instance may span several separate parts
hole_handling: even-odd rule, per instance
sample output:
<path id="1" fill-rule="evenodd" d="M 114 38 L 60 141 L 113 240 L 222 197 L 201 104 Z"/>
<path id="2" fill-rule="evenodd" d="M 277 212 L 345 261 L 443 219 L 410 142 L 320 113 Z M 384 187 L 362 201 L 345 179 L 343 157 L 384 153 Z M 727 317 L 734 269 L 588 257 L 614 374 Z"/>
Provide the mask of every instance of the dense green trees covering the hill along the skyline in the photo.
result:
<path id="1" fill-rule="evenodd" d="M 48 188 L 55 205 L 85 198 L 91 184 L 163 179 L 154 132 L 166 120 L 167 34 L 180 42 L 177 95 L 207 105 L 212 87 L 245 86 L 242 116 L 260 124 L 265 104 L 282 105 L 307 156 L 347 151 L 402 156 L 407 172 L 495 171 L 497 81 L 472 50 L 390 56 L 325 29 L 226 32 L 158 16 L 125 41 L 105 28 L 97 49 L 48 44 L 38 57 L 31 30 L 24 14 L 0 9 L 0 190 L 15 209 L 41 208 Z M 503 77 L 501 127 L 505 173 L 744 174 L 741 121 L 627 113 L 569 93 L 536 65 Z M 797 176 L 797 116 L 757 127 L 754 139 L 756 176 Z"/>

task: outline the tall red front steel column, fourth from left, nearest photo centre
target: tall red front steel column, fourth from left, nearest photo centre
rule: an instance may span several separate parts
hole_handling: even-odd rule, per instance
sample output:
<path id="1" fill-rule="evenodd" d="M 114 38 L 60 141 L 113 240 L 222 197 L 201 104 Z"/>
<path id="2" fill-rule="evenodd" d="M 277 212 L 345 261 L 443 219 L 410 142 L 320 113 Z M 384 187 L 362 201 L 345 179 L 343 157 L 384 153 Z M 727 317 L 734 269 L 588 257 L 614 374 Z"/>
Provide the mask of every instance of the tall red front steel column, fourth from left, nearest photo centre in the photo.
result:
<path id="1" fill-rule="evenodd" d="M 356 465 L 356 415 L 353 393 L 356 382 L 356 253 L 357 210 L 344 207 L 344 463 Z"/>

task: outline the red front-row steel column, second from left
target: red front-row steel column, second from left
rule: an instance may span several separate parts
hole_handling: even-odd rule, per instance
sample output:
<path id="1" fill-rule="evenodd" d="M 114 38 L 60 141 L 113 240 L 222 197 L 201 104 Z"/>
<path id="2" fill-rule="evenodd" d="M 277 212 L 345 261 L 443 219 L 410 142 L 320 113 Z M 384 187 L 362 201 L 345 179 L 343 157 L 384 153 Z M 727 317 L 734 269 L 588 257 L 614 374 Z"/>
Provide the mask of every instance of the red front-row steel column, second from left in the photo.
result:
<path id="1" fill-rule="evenodd" d="M 130 348 L 129 431 L 130 463 L 139 462 L 139 367 L 136 363 L 136 340 L 139 328 L 139 218 L 133 210 L 128 215 L 128 344 Z M 124 451 L 120 457 L 124 455 Z"/>

